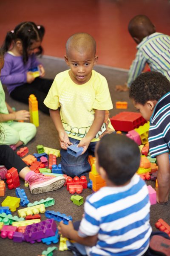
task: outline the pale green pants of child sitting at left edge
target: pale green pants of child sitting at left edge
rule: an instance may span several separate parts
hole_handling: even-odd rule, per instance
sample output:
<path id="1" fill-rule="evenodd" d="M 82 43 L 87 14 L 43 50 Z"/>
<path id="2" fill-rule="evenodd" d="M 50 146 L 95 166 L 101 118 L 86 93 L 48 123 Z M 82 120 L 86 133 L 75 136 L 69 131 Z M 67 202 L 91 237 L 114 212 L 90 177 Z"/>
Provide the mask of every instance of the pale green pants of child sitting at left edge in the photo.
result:
<path id="1" fill-rule="evenodd" d="M 0 138 L 0 144 L 15 145 L 19 140 L 26 145 L 34 138 L 37 129 L 28 122 L 1 122 L 0 127 L 4 135 Z"/>

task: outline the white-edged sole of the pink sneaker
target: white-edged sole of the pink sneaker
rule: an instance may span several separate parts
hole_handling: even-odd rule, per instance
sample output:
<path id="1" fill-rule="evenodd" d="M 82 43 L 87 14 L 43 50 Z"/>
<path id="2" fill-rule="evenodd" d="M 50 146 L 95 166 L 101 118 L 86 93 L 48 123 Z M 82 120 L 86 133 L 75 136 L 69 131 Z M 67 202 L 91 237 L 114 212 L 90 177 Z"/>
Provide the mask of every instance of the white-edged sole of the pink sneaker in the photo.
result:
<path id="1" fill-rule="evenodd" d="M 40 193 L 60 189 L 65 184 L 65 177 L 55 177 L 53 180 L 47 180 L 44 183 L 35 183 L 30 186 L 31 194 L 37 195 Z"/>

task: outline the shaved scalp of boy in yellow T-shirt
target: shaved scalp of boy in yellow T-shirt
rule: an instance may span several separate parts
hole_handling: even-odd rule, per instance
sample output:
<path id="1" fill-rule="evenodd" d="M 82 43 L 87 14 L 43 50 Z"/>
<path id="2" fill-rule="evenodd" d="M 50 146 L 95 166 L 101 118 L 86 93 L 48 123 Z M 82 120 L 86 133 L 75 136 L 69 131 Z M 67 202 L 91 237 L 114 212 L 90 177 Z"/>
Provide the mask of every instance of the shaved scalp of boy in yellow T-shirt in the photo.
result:
<path id="1" fill-rule="evenodd" d="M 85 51 L 94 52 L 96 54 L 96 41 L 87 33 L 76 33 L 68 38 L 66 43 L 66 54 L 69 56 L 71 50 L 76 50 L 80 53 Z"/>

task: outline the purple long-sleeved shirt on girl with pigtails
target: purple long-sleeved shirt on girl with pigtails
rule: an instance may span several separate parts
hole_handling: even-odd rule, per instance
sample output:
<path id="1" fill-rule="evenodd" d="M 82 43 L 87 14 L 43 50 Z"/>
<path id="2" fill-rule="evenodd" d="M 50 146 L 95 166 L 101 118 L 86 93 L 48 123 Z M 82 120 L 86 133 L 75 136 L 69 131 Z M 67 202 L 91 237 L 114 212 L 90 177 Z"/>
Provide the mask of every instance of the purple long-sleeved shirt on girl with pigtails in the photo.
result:
<path id="1" fill-rule="evenodd" d="M 10 94 L 17 86 L 26 83 L 28 70 L 39 64 L 35 54 L 29 55 L 24 65 L 23 56 L 14 56 L 7 52 L 4 56 L 4 67 L 1 70 L 0 79 L 2 84 L 7 86 L 8 93 Z"/>

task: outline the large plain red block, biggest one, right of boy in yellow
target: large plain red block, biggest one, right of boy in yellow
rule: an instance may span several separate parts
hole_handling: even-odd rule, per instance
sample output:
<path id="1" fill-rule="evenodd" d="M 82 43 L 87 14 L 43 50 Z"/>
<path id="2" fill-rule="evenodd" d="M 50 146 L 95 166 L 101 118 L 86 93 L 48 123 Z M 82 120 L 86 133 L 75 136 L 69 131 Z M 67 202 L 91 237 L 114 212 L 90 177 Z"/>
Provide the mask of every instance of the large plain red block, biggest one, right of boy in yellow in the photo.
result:
<path id="1" fill-rule="evenodd" d="M 146 122 L 142 115 L 136 112 L 121 112 L 110 120 L 116 131 L 131 131 Z"/>

